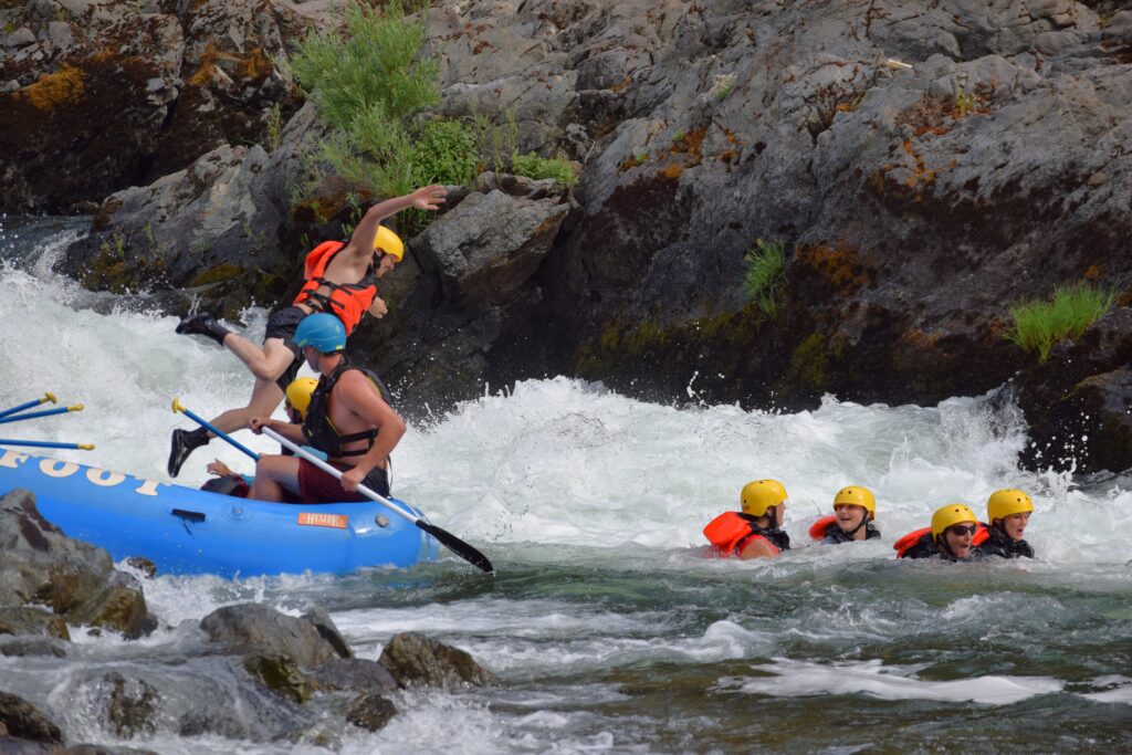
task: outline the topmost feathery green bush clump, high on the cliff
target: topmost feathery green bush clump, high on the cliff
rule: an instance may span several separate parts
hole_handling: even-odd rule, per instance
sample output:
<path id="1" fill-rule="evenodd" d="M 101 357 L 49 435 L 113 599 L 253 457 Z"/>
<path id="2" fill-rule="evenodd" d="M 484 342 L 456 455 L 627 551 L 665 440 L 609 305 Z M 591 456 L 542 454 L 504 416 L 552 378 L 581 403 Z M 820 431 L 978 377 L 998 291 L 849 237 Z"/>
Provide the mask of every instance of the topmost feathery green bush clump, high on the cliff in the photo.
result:
<path id="1" fill-rule="evenodd" d="M 311 34 L 294 57 L 295 78 L 311 92 L 319 115 L 348 130 L 357 118 L 404 122 L 440 101 L 439 66 L 421 58 L 423 20 L 405 18 L 400 2 L 378 11 L 351 1 L 346 35 Z"/>

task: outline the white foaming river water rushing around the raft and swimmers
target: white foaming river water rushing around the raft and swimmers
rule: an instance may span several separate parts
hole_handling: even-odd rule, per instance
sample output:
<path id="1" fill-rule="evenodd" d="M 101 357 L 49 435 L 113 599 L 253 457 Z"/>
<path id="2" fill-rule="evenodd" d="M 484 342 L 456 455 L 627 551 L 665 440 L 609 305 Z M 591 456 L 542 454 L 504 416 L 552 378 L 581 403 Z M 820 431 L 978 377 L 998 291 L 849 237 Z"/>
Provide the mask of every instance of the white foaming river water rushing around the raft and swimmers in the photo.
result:
<path id="1" fill-rule="evenodd" d="M 175 319 L 147 311 L 143 295 L 93 294 L 52 274 L 83 228 L 0 220 L 0 406 L 44 391 L 82 402 L 11 428 L 97 444 L 58 457 L 165 480 L 169 434 L 186 427 L 172 397 L 213 415 L 241 404 L 250 379 L 228 352 L 174 335 Z M 265 312 L 247 319 L 259 337 Z M 203 653 L 196 623 L 251 600 L 294 615 L 326 608 L 363 658 L 396 632 L 424 632 L 505 681 L 398 694 L 383 731 L 335 729 L 343 753 L 1130 752 L 1132 486 L 1020 472 L 1026 443 L 1017 412 L 979 397 L 933 407 L 829 397 L 788 414 L 524 381 L 411 427 L 395 454 L 396 494 L 481 548 L 496 577 L 455 558 L 341 577 L 160 576 L 145 585 L 163 625 L 151 637 L 74 629 L 67 658 L 0 657 L 0 690 L 42 706 L 68 741 L 329 752 L 309 736 L 273 740 L 311 714 L 257 697 Z M 213 441 L 179 481 L 204 481 L 212 458 L 248 466 Z M 796 549 L 762 563 L 705 558 L 703 525 L 763 477 L 790 492 Z M 876 492 L 884 537 L 807 547 L 808 525 L 848 483 Z M 1034 496 L 1038 559 L 893 558 L 892 542 L 935 507 L 963 500 L 983 514 L 1002 487 Z M 162 690 L 153 730 L 108 729 L 97 681 L 108 669 Z M 196 733 L 189 714 L 225 723 Z"/>

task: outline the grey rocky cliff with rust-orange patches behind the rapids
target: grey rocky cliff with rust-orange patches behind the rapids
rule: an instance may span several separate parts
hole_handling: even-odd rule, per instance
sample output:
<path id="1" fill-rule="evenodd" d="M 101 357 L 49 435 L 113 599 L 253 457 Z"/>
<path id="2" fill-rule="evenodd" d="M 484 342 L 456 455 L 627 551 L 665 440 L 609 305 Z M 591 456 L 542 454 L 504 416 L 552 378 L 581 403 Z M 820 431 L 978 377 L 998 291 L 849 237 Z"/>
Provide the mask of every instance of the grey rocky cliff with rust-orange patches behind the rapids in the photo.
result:
<path id="1" fill-rule="evenodd" d="M 3 11 L 6 28 L 23 24 L 2 40 L 0 106 L 23 113 L 0 127 L 6 205 L 66 207 L 156 179 L 104 198 L 65 264 L 93 286 L 190 291 L 230 316 L 293 291 L 305 242 L 337 230 L 348 191 L 324 185 L 317 213 L 292 206 L 317 118 L 308 104 L 274 137 L 265 123 L 295 106 L 275 83 L 289 19 L 327 27 L 335 6 L 89 3 L 70 12 L 104 25 L 68 26 L 86 46 L 62 53 L 70 20 L 49 19 L 54 5 Z M 1122 5 L 434 2 L 440 112 L 511 115 L 520 151 L 566 155 L 581 179 L 567 196 L 495 174 L 454 192 L 391 276 L 391 316 L 355 348 L 409 406 L 552 374 L 784 409 L 1005 384 L 1034 427 L 1029 462 L 1132 466 Z M 135 80 L 111 49 L 161 72 L 118 87 L 104 112 L 96 63 Z M 272 66 L 245 65 L 255 50 Z M 86 140 L 26 130 L 84 112 L 88 130 L 110 118 Z M 178 131 L 179 118 L 212 126 Z M 787 252 L 774 317 L 743 284 L 760 238 Z M 1004 340 L 1011 304 L 1081 281 L 1122 293 L 1078 343 L 1041 363 Z"/>

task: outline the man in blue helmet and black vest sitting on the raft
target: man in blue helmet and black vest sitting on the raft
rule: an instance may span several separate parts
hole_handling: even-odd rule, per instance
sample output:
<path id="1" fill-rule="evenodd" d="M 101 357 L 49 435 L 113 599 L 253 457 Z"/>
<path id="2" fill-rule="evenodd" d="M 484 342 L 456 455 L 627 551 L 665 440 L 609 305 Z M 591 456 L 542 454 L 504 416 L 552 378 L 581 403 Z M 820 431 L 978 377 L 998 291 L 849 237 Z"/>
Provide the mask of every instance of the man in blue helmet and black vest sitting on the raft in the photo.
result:
<path id="1" fill-rule="evenodd" d="M 405 423 L 383 395 L 380 380 L 346 359 L 345 327 L 333 315 L 308 315 L 295 329 L 294 342 L 320 376 L 302 427 L 260 417 L 251 418 L 248 427 L 256 434 L 268 427 L 293 443 L 325 452 L 342 478 L 305 458 L 265 455 L 256 463 L 248 497 L 280 501 L 291 492 L 305 504 L 365 500 L 359 484 L 388 496 L 389 454 L 405 434 Z"/>

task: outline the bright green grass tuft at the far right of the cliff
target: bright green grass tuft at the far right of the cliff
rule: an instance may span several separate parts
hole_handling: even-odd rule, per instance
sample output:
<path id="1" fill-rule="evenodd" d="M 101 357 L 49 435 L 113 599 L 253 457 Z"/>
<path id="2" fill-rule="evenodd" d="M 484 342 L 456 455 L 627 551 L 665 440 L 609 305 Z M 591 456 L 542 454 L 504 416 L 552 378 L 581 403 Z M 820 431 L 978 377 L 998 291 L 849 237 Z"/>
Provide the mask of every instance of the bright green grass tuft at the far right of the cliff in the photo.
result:
<path id="1" fill-rule="evenodd" d="M 1026 301 L 1010 308 L 1014 324 L 1006 338 L 1026 351 L 1049 359 L 1054 344 L 1063 338 L 1079 338 L 1095 321 L 1113 308 L 1117 286 L 1101 288 L 1081 282 L 1058 288 L 1052 301 Z"/>

